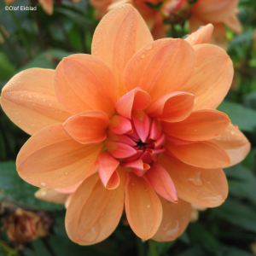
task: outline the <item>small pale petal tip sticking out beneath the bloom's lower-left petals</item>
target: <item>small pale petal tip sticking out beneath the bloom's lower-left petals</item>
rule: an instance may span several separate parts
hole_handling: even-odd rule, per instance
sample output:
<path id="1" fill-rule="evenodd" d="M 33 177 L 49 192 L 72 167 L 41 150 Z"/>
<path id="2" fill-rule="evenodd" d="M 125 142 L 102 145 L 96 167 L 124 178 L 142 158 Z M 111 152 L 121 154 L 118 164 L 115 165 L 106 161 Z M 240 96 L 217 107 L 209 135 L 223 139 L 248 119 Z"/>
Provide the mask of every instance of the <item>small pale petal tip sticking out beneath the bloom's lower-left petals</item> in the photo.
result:
<path id="1" fill-rule="evenodd" d="M 55 189 L 38 189 L 35 197 L 55 204 L 64 204 L 69 194 L 61 193 Z"/>

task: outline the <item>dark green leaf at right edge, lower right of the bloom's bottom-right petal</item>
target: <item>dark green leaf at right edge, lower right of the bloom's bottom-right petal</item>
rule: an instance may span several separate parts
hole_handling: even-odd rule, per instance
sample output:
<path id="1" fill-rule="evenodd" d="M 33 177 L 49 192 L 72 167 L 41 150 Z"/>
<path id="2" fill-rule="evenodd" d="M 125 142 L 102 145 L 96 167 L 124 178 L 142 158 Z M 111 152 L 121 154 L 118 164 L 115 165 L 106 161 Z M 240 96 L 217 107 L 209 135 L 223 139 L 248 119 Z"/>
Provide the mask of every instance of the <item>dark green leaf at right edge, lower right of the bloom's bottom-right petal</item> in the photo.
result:
<path id="1" fill-rule="evenodd" d="M 256 232 L 256 212 L 238 201 L 227 199 L 220 207 L 211 210 L 219 218 L 240 226 L 249 231 Z"/>

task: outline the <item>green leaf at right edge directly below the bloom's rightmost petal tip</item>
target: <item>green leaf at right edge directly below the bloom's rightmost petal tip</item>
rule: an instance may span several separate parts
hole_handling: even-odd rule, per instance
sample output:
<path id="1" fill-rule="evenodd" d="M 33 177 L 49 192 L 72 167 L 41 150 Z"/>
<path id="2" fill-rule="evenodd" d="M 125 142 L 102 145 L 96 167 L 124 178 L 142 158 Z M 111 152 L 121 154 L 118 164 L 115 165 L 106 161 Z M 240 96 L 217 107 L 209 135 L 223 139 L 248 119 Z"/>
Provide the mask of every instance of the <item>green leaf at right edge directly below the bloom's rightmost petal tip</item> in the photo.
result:
<path id="1" fill-rule="evenodd" d="M 247 199 L 256 205 L 256 177 L 245 166 L 224 169 L 229 181 L 230 194 Z"/>

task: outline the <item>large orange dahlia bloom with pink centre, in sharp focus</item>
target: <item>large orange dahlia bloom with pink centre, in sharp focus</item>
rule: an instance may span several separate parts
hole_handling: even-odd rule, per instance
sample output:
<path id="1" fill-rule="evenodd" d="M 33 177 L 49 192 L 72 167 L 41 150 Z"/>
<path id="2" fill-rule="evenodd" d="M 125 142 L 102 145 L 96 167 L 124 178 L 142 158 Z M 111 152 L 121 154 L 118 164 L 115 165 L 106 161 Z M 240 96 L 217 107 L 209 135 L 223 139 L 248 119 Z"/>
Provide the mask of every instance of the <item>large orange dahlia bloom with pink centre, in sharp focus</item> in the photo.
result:
<path id="1" fill-rule="evenodd" d="M 73 241 L 104 240 L 124 204 L 137 236 L 171 241 L 189 223 L 191 203 L 224 202 L 222 167 L 244 159 L 250 143 L 215 110 L 233 66 L 224 49 L 207 44 L 212 30 L 154 41 L 124 4 L 96 27 L 92 55 L 28 69 L 4 86 L 4 112 L 32 134 L 17 157 L 20 177 L 44 189 L 84 180 L 67 207 Z"/>

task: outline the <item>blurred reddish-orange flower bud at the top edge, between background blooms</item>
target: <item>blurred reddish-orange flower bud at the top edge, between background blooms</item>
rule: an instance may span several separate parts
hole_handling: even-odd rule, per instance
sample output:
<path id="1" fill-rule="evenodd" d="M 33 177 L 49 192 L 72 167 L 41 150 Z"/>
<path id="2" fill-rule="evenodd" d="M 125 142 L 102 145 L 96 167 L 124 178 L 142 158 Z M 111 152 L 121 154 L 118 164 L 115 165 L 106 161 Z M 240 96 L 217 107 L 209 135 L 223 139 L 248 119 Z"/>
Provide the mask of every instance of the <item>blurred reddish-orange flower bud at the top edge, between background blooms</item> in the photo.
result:
<path id="1" fill-rule="evenodd" d="M 171 23 L 182 23 L 189 18 L 187 0 L 166 0 L 160 8 L 161 15 Z"/>

